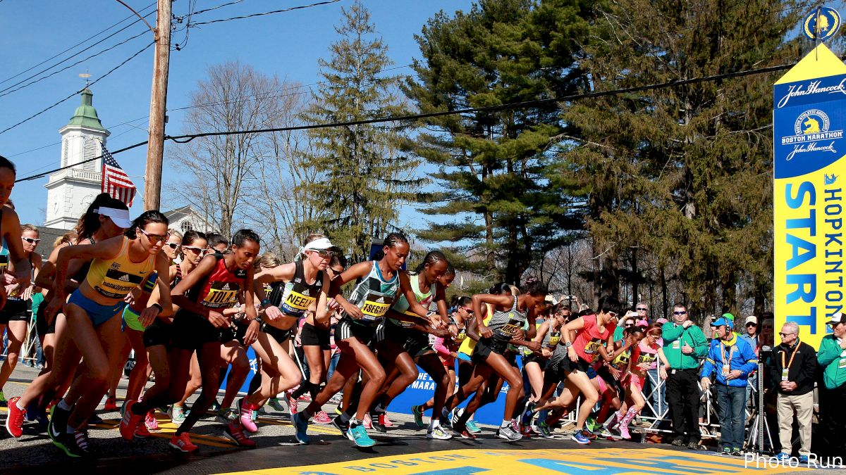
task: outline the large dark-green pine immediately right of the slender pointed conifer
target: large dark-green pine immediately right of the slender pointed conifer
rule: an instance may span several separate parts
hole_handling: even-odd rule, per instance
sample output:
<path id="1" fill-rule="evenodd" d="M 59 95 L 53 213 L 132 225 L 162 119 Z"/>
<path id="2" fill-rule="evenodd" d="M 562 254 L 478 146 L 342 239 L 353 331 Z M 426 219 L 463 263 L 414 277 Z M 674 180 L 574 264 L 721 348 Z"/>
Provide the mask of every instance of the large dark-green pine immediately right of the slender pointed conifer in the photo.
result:
<path id="1" fill-rule="evenodd" d="M 419 80 L 405 92 L 420 112 L 455 111 L 565 96 L 585 76 L 576 64 L 592 2 L 482 0 L 469 13 L 441 12 L 417 41 Z M 580 223 L 559 180 L 548 174 L 566 133 L 548 102 L 502 112 L 426 119 L 416 153 L 437 166 L 437 191 L 423 194 L 425 213 L 449 216 L 417 235 L 461 243 L 459 269 L 518 282 L 532 259 L 556 247 Z M 465 244 L 466 243 L 466 244 Z"/>

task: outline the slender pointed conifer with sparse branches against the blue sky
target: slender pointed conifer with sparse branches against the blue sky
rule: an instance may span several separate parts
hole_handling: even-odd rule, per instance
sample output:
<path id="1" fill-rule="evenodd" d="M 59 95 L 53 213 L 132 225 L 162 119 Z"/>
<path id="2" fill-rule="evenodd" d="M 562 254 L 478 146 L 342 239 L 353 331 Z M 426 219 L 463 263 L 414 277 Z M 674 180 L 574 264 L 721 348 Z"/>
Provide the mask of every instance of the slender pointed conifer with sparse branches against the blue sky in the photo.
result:
<path id="1" fill-rule="evenodd" d="M 308 123 L 362 121 L 400 115 L 399 79 L 382 74 L 392 63 L 359 2 L 342 8 L 331 57 L 319 61 L 322 82 L 304 113 Z M 296 190 L 317 205 L 318 218 L 305 226 L 327 233 L 352 262 L 365 259 L 372 238 L 393 230 L 400 200 L 419 188 L 412 177 L 418 161 L 402 150 L 404 131 L 393 126 L 354 125 L 310 130 L 315 152 L 307 157 L 320 171 L 315 183 Z"/>

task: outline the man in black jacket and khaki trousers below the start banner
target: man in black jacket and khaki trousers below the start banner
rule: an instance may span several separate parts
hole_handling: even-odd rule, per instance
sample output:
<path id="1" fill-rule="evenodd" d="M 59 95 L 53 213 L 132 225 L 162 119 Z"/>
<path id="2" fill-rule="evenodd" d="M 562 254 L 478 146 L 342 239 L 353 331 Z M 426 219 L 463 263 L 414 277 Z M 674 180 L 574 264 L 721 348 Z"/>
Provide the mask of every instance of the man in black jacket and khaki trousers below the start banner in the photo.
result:
<path id="1" fill-rule="evenodd" d="M 810 421 L 814 415 L 814 373 L 816 352 L 809 344 L 799 341 L 799 325 L 788 322 L 782 326 L 782 344 L 773 354 L 777 390 L 778 439 L 782 443 L 779 459 L 787 460 L 793 448 L 793 418 L 799 423 L 799 463 L 807 463 L 810 456 Z"/>

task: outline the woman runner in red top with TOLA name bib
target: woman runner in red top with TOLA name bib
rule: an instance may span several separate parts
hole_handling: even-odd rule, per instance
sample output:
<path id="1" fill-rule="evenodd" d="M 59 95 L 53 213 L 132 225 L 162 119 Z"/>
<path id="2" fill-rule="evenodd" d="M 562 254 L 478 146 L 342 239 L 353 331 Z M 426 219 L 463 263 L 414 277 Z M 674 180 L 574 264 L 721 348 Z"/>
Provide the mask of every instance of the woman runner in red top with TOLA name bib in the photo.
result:
<path id="1" fill-rule="evenodd" d="M 209 410 L 220 387 L 220 332 L 231 323 L 223 311 L 238 304 L 239 292 L 244 292 L 244 313 L 249 322 L 244 342 L 252 344 L 259 335 L 261 320 L 253 304 L 253 261 L 259 256 L 259 243 L 258 235 L 249 229 L 236 232 L 228 254 L 206 255 L 170 291 L 173 302 L 180 308 L 171 327 L 170 386 L 168 392 L 147 395 L 144 401 L 127 402 L 120 423 L 120 434 L 125 440 L 133 439 L 135 429 L 151 409 L 179 401 L 184 396 L 190 379 L 191 355 L 197 352 L 202 391 L 169 445 L 183 452 L 198 449 L 191 443 L 189 431 Z M 255 447 L 255 441 L 244 434 L 238 419 L 228 423 L 224 434 L 242 447 Z"/>

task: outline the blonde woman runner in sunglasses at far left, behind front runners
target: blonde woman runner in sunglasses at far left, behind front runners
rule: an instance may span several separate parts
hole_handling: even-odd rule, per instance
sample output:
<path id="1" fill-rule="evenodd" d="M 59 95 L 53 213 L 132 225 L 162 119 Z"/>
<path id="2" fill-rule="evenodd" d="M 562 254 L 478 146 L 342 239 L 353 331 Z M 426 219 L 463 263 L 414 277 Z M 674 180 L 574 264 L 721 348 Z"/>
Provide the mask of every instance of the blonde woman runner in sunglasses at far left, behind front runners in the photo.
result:
<path id="1" fill-rule="evenodd" d="M 35 281 L 38 271 L 41 270 L 41 255 L 36 254 L 36 247 L 41 239 L 38 238 L 38 228 L 25 224 L 20 227 L 20 240 L 24 248 L 24 255 L 27 259 L 27 266 L 32 273 L 32 280 Z M 3 256 L 8 259 L 8 248 L 3 246 Z M 20 348 L 26 338 L 26 329 L 30 323 L 30 309 L 32 308 L 32 293 L 41 292 L 41 289 L 34 287 L 35 284 L 28 284 L 21 288 L 19 283 L 6 286 L 6 305 L 0 310 L 0 336 L 6 331 L 8 346 L 6 347 L 6 359 L 3 367 L 0 368 L 0 406 L 6 405 L 3 397 L 3 385 L 12 375 L 14 367 L 18 364 Z"/>

